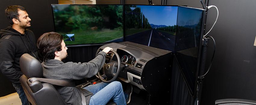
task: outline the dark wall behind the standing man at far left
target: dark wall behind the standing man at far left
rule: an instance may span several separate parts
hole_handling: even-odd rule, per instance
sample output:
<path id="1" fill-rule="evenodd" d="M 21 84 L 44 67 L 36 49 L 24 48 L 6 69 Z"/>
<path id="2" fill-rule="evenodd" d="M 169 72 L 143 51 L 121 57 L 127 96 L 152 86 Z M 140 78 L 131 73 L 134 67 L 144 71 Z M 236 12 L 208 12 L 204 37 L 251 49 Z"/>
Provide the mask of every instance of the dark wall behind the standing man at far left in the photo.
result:
<path id="1" fill-rule="evenodd" d="M 58 0 L 8 0 L 0 4 L 0 29 L 11 26 L 8 22 L 5 9 L 8 5 L 20 5 L 26 8 L 31 18 L 31 27 L 36 36 L 39 38 L 45 32 L 54 31 L 52 7 L 51 4 L 58 4 Z M 16 92 L 11 82 L 0 73 L 0 97 Z"/>

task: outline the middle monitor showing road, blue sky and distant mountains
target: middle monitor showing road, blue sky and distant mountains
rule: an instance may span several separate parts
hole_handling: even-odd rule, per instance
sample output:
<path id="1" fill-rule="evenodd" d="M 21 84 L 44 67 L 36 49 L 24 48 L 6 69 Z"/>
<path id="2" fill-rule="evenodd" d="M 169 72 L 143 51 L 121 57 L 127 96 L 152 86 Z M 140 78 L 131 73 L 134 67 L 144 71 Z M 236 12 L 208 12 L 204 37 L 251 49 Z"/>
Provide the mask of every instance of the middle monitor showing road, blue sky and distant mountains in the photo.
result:
<path id="1" fill-rule="evenodd" d="M 125 5 L 125 41 L 174 51 L 178 6 Z"/>

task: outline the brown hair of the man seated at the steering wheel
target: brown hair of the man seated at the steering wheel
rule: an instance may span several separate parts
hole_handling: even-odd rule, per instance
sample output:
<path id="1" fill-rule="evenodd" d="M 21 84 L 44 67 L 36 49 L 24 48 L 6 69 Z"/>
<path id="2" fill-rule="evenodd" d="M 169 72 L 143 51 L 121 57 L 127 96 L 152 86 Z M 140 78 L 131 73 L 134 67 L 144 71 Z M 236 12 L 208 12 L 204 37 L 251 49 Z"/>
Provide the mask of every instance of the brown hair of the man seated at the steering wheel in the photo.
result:
<path id="1" fill-rule="evenodd" d="M 56 32 L 47 32 L 37 40 L 38 52 L 43 56 L 43 60 L 55 58 L 55 51 L 61 51 L 62 35 Z"/>

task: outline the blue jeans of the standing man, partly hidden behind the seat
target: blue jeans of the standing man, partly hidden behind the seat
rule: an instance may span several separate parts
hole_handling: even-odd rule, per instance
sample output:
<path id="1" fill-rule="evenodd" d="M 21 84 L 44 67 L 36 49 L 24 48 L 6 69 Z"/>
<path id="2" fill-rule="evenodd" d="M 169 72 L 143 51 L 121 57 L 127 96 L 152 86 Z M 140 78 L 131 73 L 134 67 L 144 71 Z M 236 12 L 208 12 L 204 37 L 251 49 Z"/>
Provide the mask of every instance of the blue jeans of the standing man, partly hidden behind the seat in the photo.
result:
<path id="1" fill-rule="evenodd" d="M 22 105 L 29 105 L 27 96 L 25 95 L 22 86 L 20 84 L 14 84 L 14 83 L 12 83 L 12 85 L 15 88 L 15 90 L 17 91 L 17 93 L 19 94 Z"/>

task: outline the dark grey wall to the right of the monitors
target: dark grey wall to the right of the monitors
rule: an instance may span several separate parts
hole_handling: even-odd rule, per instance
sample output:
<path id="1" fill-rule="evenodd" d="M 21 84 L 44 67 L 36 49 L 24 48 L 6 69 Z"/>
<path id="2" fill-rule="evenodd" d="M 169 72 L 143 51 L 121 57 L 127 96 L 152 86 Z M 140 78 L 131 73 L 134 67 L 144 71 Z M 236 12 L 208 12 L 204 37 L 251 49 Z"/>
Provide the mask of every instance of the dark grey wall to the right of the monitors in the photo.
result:
<path id="1" fill-rule="evenodd" d="M 169 0 L 168 5 L 188 5 L 202 8 L 199 0 Z M 256 33 L 255 0 L 209 0 L 219 10 L 219 18 L 208 34 L 214 37 L 217 50 L 209 73 L 205 76 L 201 105 L 213 105 L 223 98 L 242 98 L 256 101 Z M 214 7 L 208 10 L 206 32 L 217 16 Z M 210 40 L 207 61 L 211 59 Z M 206 65 L 206 67 L 208 67 Z"/>

